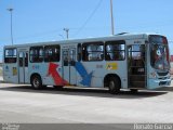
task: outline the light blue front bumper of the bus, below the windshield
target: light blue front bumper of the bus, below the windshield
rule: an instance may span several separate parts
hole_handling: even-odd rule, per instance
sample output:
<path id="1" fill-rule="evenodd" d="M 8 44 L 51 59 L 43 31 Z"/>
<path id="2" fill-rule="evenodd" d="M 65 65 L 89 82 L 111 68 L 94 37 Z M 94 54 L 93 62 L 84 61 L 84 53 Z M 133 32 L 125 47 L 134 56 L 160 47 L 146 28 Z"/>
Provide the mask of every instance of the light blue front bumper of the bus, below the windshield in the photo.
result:
<path id="1" fill-rule="evenodd" d="M 171 79 L 164 79 L 164 80 L 155 80 L 155 79 L 149 79 L 148 80 L 148 89 L 158 89 L 162 87 L 169 87 L 171 86 Z"/>

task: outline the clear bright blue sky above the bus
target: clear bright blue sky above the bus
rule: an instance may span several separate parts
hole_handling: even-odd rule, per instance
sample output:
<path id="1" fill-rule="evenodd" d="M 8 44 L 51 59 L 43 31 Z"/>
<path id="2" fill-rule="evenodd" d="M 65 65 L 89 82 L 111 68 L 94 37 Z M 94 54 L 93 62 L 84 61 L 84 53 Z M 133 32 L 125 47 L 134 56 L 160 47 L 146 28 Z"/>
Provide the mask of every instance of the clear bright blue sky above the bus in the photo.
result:
<path id="1" fill-rule="evenodd" d="M 115 34 L 158 32 L 168 37 L 173 54 L 173 0 L 112 0 Z M 111 35 L 109 0 L 0 0 L 0 61 L 11 44 Z"/>

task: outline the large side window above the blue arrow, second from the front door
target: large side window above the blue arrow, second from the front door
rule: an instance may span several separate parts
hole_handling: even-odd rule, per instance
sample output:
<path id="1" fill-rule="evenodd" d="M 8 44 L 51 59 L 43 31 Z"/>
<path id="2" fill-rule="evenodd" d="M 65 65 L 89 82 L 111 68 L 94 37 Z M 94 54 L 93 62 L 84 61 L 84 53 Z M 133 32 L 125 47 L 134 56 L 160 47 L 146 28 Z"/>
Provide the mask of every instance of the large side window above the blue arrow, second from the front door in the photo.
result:
<path id="1" fill-rule="evenodd" d="M 104 43 L 89 42 L 82 46 L 83 61 L 103 61 L 104 60 Z"/>

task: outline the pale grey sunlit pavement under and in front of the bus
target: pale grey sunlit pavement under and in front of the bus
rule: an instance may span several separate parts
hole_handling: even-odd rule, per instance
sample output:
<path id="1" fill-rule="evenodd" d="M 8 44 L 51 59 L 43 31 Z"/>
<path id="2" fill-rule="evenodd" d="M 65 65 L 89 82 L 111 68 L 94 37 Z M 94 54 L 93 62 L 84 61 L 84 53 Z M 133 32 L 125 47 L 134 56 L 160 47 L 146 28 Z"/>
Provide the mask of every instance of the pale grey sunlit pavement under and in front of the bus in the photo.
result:
<path id="1" fill-rule="evenodd" d="M 0 122 L 136 123 L 173 122 L 173 88 L 160 91 L 32 90 L 0 83 Z"/>

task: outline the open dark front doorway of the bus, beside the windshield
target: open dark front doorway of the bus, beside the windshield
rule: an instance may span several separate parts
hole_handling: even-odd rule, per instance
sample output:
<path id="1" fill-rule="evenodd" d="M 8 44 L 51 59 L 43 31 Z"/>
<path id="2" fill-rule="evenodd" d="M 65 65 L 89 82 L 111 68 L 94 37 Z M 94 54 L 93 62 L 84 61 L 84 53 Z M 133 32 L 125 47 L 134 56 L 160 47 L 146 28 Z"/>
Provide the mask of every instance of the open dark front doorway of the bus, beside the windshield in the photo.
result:
<path id="1" fill-rule="evenodd" d="M 128 82 L 130 89 L 144 89 L 146 87 L 145 51 L 145 44 L 128 46 Z"/>

